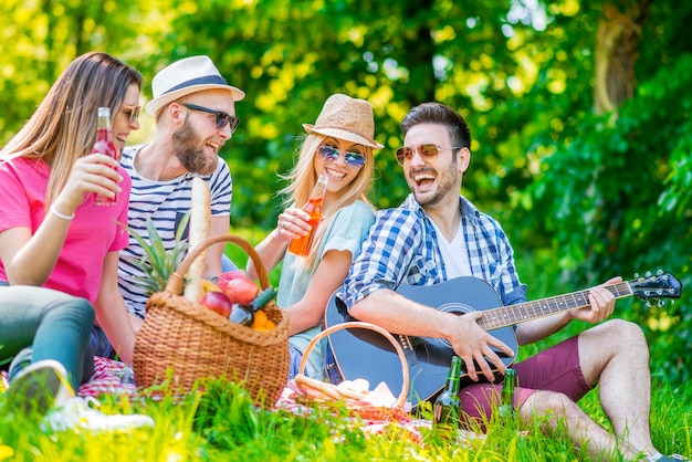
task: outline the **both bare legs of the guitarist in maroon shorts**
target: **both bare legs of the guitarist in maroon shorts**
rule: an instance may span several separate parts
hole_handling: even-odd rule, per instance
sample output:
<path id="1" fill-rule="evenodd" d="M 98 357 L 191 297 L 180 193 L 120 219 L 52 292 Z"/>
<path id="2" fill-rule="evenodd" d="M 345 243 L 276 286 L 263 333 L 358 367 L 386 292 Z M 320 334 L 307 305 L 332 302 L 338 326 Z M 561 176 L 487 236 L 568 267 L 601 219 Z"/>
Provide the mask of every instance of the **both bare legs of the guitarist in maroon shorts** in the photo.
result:
<path id="1" fill-rule="evenodd" d="M 608 321 L 581 333 L 578 345 L 584 378 L 591 387 L 600 382 L 600 403 L 615 434 L 559 392 L 534 392 L 520 409 L 522 419 L 542 416 L 547 431 L 558 430 L 562 422 L 570 441 L 586 448 L 595 460 L 609 459 L 618 451 L 628 459 L 657 453 L 649 431 L 649 347 L 639 326 Z"/>

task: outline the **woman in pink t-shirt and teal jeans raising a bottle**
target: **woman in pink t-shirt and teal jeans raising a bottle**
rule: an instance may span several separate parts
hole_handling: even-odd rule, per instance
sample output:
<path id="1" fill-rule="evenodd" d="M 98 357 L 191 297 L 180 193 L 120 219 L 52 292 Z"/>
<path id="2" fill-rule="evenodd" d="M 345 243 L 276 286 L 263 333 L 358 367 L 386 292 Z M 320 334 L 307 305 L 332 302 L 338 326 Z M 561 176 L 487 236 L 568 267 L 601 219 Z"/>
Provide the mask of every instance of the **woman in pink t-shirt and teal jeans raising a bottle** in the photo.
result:
<path id="1" fill-rule="evenodd" d="M 0 364 L 14 359 L 10 401 L 40 389 L 46 411 L 88 379 L 94 313 L 132 361 L 135 333 L 117 286 L 130 181 L 92 150 L 101 106 L 117 150 L 139 128 L 140 86 L 140 74 L 111 55 L 81 55 L 0 150 Z M 96 195 L 117 202 L 97 206 Z"/>

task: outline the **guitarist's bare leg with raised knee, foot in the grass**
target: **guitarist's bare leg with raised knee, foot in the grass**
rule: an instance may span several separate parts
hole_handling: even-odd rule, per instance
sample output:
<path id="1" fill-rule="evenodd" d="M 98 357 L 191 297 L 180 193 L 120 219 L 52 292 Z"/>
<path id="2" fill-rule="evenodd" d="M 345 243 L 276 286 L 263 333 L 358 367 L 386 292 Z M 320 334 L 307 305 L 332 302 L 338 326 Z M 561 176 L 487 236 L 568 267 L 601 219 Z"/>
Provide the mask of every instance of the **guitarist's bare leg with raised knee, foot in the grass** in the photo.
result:
<path id="1" fill-rule="evenodd" d="M 633 323 L 611 319 L 579 335 L 579 365 L 587 384 L 599 382 L 600 403 L 625 455 L 654 454 L 649 410 L 649 346 Z"/>

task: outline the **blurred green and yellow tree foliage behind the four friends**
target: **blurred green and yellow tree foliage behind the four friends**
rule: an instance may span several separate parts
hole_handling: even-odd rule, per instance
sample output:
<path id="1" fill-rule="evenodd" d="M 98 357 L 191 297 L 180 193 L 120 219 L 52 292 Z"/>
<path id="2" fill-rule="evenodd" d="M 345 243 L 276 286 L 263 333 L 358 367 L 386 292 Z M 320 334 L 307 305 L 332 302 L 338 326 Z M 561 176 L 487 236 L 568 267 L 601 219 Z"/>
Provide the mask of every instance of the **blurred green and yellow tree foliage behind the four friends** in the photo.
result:
<path id="1" fill-rule="evenodd" d="M 222 155 L 232 224 L 270 228 L 295 138 L 335 92 L 367 98 L 377 139 L 373 199 L 408 192 L 392 153 L 406 112 L 457 107 L 474 137 L 462 192 L 496 216 L 517 255 L 551 255 L 536 295 L 662 267 L 690 283 L 692 6 L 673 0 L 6 0 L 0 141 L 66 64 L 104 50 L 149 82 L 208 54 L 248 96 Z M 143 118 L 146 116 L 143 116 Z M 146 125 L 146 120 L 145 122 Z M 150 127 L 149 120 L 149 127 Z M 684 294 L 684 292 L 683 292 Z M 691 314 L 619 303 L 657 370 L 690 378 Z"/>

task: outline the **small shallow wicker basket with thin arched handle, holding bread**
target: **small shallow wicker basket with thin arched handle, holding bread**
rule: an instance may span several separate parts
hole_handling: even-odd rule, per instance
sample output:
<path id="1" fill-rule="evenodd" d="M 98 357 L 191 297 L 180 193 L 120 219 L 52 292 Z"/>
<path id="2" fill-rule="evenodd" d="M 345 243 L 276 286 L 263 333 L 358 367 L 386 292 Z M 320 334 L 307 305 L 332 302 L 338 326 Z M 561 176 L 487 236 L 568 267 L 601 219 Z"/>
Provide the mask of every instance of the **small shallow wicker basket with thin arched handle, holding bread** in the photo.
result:
<path id="1" fill-rule="evenodd" d="M 374 419 L 374 420 L 406 420 L 408 419 L 408 412 L 406 410 L 406 397 L 408 395 L 409 388 L 409 367 L 406 360 L 406 356 L 403 355 L 403 349 L 401 345 L 394 338 L 391 334 L 389 334 L 384 328 L 370 324 L 364 323 L 359 321 L 354 321 L 349 323 L 336 324 L 332 327 L 328 327 L 317 334 L 303 353 L 303 359 L 301 360 L 301 366 L 298 370 L 305 370 L 305 366 L 307 364 L 307 357 L 310 353 L 313 350 L 315 345 L 327 335 L 331 335 L 337 330 L 348 329 L 348 328 L 365 328 L 369 330 L 375 330 L 378 334 L 381 334 L 387 340 L 391 343 L 397 355 L 399 356 L 399 360 L 401 361 L 401 376 L 403 378 L 401 382 L 401 390 L 399 396 L 396 398 L 395 402 L 391 406 L 375 406 L 370 403 L 367 399 L 364 399 L 364 395 L 343 389 L 336 385 L 327 384 L 321 380 L 316 380 L 310 377 L 304 376 L 303 374 L 298 374 L 295 377 L 295 385 L 297 388 L 303 391 L 303 396 L 301 398 L 304 402 L 333 402 L 340 401 L 346 408 L 355 416 L 361 417 L 364 419 Z M 367 359 L 365 359 L 367 360 Z M 356 379 L 357 377 L 352 377 L 350 379 Z M 377 384 L 371 384 L 377 385 Z"/>

